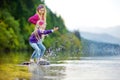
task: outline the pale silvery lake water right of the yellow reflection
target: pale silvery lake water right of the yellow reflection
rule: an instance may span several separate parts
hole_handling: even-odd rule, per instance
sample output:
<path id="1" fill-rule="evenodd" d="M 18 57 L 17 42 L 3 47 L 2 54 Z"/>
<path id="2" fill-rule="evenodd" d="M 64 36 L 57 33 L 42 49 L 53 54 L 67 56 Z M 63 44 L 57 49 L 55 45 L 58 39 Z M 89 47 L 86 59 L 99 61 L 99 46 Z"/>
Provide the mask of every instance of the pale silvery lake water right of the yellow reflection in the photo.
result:
<path id="1" fill-rule="evenodd" d="M 28 66 L 30 80 L 120 80 L 120 57 L 81 57 L 60 64 Z"/>

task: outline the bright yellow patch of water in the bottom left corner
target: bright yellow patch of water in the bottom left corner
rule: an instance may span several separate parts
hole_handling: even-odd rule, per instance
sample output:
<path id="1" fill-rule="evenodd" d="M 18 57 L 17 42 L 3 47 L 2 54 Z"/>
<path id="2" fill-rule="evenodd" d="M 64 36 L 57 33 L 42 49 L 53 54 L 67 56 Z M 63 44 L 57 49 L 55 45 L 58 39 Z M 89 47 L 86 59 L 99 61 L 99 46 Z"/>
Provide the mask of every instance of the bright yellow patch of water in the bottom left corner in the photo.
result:
<path id="1" fill-rule="evenodd" d="M 28 71 L 27 66 L 0 65 L 0 80 L 15 80 L 16 78 L 29 80 L 30 77 L 31 73 Z"/>

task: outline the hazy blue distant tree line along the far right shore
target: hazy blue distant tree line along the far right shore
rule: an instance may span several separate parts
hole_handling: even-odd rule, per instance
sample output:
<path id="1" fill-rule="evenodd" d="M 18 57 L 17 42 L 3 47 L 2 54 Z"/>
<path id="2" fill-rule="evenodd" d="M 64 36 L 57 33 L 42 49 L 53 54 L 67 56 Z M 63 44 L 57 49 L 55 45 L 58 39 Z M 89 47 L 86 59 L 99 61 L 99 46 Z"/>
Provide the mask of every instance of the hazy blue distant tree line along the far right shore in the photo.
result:
<path id="1" fill-rule="evenodd" d="M 96 42 L 82 38 L 83 56 L 113 56 L 120 55 L 120 45 Z"/>

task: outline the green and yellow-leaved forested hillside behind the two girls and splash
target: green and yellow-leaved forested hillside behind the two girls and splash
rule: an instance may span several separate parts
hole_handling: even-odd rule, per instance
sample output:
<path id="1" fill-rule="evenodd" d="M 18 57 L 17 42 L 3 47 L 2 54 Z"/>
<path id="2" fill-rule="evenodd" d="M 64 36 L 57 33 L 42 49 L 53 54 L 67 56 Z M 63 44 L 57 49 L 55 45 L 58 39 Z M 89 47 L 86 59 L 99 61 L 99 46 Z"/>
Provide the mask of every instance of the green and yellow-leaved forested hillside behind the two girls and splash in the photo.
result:
<path id="1" fill-rule="evenodd" d="M 40 0 L 0 0 L 0 51 L 31 49 L 28 39 L 34 25 L 28 22 L 28 18 L 35 14 L 41 3 L 44 4 Z M 72 49 L 81 47 L 80 40 L 66 29 L 62 17 L 47 7 L 47 29 L 54 26 L 59 26 L 59 31 L 45 39 L 47 48 L 56 42 L 57 47 L 64 46 L 64 50 L 70 50 L 72 44 Z"/>

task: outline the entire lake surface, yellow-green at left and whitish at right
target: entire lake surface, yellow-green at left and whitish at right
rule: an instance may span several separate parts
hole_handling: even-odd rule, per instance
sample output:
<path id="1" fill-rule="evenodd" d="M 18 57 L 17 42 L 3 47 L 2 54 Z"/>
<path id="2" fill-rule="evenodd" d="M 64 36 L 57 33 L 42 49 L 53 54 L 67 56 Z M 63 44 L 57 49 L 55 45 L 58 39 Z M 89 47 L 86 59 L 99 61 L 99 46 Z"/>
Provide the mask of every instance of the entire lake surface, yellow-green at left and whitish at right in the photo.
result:
<path id="1" fill-rule="evenodd" d="M 18 65 L 28 59 L 26 53 L 0 55 L 0 80 L 120 80 L 120 56 L 81 57 L 45 66 Z"/>

